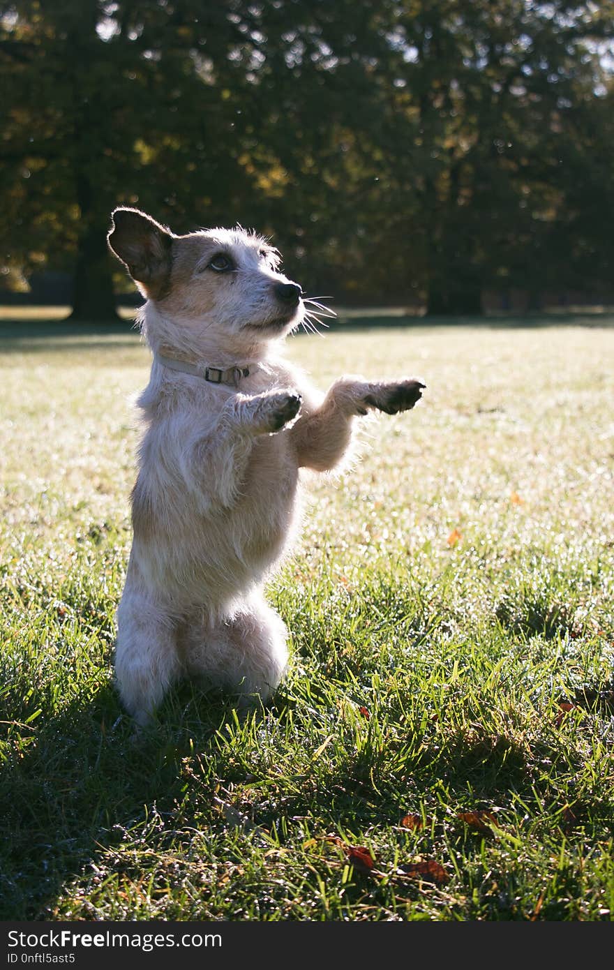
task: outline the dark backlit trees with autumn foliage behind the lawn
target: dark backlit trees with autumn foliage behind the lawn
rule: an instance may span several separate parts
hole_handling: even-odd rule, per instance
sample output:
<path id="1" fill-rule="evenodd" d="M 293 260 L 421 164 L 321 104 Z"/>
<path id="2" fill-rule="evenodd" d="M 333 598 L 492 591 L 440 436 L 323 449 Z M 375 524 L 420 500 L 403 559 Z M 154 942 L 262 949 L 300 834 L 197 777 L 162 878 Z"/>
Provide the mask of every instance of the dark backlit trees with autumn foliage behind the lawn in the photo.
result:
<path id="1" fill-rule="evenodd" d="M 0 8 L 6 266 L 113 313 L 109 215 L 236 221 L 361 300 L 609 283 L 614 5 L 14 0 Z"/>

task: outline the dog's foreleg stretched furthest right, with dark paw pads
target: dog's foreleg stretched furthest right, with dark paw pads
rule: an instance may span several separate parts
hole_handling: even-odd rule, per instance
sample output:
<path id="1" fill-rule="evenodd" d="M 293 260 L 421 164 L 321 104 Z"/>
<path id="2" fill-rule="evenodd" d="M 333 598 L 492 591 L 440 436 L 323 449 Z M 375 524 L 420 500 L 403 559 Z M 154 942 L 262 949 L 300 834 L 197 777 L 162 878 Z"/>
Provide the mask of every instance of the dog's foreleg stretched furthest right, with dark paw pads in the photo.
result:
<path id="1" fill-rule="evenodd" d="M 316 410 L 301 417 L 290 430 L 299 466 L 328 471 L 343 457 L 352 434 L 352 419 L 369 410 L 397 414 L 409 410 L 422 396 L 419 380 L 370 383 L 340 377 Z"/>

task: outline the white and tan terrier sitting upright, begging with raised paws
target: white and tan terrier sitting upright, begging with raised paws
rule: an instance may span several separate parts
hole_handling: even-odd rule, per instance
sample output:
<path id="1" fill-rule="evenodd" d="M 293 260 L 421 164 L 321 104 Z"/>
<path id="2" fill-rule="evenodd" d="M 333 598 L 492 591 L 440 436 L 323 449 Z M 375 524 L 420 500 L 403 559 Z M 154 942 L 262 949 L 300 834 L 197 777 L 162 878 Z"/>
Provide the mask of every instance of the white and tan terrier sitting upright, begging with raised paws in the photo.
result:
<path id="1" fill-rule="evenodd" d="M 336 468 L 359 415 L 408 410 L 425 385 L 345 376 L 318 394 L 281 348 L 312 319 L 309 301 L 277 250 L 240 227 L 179 236 L 119 208 L 108 241 L 146 298 L 153 357 L 138 399 L 119 695 L 139 726 L 183 677 L 266 703 L 288 650 L 263 584 L 298 530 L 301 469 Z"/>

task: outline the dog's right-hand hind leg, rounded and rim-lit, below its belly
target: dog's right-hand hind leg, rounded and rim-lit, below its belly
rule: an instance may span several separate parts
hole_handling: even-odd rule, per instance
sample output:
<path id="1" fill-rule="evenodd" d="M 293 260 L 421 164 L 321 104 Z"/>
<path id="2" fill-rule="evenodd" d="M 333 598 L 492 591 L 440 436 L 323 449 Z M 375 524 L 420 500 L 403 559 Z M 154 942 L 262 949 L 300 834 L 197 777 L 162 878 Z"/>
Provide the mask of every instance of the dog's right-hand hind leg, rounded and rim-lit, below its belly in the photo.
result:
<path id="1" fill-rule="evenodd" d="M 185 662 L 211 687 L 241 695 L 243 704 L 256 695 L 266 702 L 288 662 L 286 637 L 281 617 L 254 593 L 230 615 L 192 625 L 185 633 Z"/>

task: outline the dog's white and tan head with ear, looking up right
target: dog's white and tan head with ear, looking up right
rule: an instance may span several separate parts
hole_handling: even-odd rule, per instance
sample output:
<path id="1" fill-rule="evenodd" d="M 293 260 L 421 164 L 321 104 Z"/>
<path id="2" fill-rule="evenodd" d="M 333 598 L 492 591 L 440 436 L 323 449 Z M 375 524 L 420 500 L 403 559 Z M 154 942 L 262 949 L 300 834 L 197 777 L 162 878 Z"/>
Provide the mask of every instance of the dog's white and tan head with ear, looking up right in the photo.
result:
<path id="1" fill-rule="evenodd" d="M 116 209 L 109 244 L 159 318 L 183 336 L 238 352 L 278 339 L 303 316 L 302 290 L 268 242 L 242 229 L 176 236 L 136 209 Z M 150 335 L 151 336 L 151 335 Z"/>

